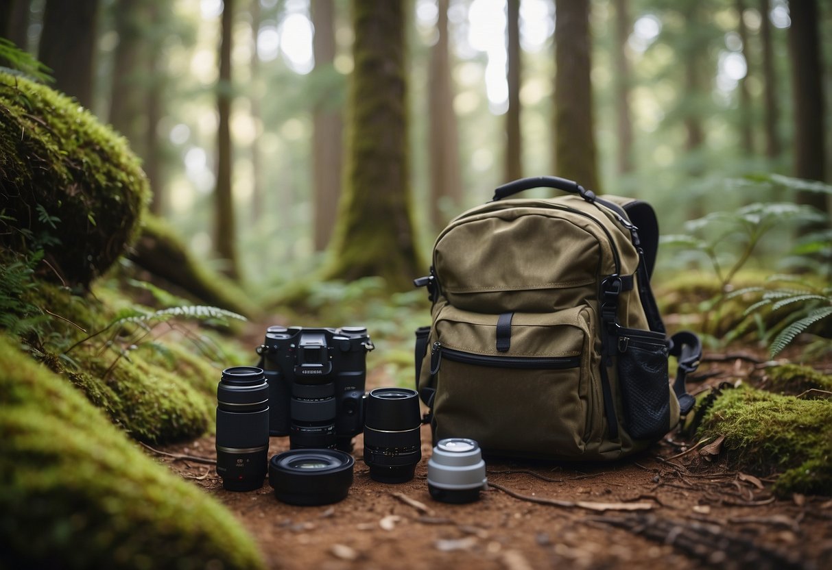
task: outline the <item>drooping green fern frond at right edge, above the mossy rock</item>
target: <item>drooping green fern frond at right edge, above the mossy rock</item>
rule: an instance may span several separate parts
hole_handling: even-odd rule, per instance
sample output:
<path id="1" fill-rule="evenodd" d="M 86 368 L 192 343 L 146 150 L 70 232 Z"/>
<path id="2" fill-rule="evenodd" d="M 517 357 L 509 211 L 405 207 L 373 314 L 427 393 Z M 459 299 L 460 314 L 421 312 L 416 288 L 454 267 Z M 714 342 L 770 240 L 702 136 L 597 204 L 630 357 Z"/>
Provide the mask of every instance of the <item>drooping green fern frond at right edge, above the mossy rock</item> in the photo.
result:
<path id="1" fill-rule="evenodd" d="M 769 283 L 780 286 L 745 287 L 730 297 L 755 295 L 757 301 L 745 309 L 744 316 L 755 319 L 760 337 L 769 345 L 772 358 L 780 354 L 795 338 L 816 323 L 832 320 L 832 287 L 816 287 L 790 275 L 774 275 Z M 773 338 L 772 338 L 773 337 Z M 807 346 L 807 354 L 832 350 L 832 339 L 816 336 Z"/>

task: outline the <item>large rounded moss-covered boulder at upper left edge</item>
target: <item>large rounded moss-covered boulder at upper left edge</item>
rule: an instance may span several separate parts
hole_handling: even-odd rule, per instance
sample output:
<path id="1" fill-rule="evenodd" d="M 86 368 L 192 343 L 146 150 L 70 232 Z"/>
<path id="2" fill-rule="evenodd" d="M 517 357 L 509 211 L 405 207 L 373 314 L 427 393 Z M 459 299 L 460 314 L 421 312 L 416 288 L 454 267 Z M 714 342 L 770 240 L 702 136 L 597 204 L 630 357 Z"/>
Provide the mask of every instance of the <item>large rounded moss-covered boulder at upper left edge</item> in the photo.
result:
<path id="1" fill-rule="evenodd" d="M 136 237 L 150 198 L 126 140 L 77 101 L 2 71 L 0 188 L 0 244 L 42 248 L 43 275 L 82 285 Z"/>

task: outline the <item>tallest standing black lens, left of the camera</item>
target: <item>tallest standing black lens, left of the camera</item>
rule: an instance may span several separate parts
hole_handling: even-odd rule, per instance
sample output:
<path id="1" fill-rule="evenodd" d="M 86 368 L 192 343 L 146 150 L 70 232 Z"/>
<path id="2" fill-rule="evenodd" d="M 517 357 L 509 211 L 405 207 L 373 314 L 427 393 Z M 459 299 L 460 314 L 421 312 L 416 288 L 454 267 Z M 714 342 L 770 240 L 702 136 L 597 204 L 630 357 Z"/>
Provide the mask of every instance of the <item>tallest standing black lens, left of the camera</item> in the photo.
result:
<path id="1" fill-rule="evenodd" d="M 260 489 L 269 453 L 269 385 L 263 370 L 226 368 L 216 400 L 216 473 L 222 486 L 230 491 Z"/>

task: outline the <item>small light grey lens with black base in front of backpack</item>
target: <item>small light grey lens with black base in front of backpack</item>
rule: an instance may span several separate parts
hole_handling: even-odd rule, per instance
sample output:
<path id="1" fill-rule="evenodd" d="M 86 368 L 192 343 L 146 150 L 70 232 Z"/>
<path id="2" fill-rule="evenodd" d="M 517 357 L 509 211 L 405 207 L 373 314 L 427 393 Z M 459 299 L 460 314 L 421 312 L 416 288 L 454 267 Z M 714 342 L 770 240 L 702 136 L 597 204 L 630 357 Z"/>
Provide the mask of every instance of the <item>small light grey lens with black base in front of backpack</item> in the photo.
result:
<path id="1" fill-rule="evenodd" d="M 485 461 L 474 440 L 453 437 L 439 440 L 428 460 L 428 491 L 443 503 L 472 503 L 479 499 L 488 479 Z"/>

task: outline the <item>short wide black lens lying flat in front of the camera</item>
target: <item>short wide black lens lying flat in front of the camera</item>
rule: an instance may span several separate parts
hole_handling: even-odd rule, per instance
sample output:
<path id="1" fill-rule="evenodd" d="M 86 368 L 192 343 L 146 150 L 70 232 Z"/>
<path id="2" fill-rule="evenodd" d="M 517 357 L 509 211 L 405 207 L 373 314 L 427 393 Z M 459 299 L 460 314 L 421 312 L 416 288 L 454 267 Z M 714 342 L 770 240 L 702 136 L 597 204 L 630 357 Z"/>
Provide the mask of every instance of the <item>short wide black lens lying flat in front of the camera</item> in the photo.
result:
<path id="1" fill-rule="evenodd" d="M 352 455 L 338 450 L 290 450 L 269 462 L 269 483 L 283 503 L 338 503 L 353 484 Z"/>

